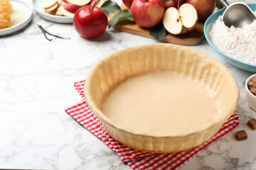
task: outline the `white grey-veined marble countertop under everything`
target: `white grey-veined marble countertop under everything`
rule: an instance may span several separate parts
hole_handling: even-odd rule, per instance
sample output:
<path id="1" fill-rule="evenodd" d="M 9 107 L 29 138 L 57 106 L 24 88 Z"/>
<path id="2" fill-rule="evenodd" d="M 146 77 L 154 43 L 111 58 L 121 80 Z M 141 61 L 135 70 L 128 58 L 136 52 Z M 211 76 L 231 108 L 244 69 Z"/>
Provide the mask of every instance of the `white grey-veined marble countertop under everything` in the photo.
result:
<path id="1" fill-rule="evenodd" d="M 24 1 L 31 5 L 31 1 Z M 36 24 L 71 40 L 53 38 L 49 42 Z M 64 110 L 80 101 L 73 84 L 85 79 L 97 60 L 124 47 L 146 43 L 159 41 L 114 29 L 86 40 L 71 24 L 50 23 L 35 12 L 26 29 L 1 37 L 0 169 L 130 170 Z M 246 125 L 256 113 L 247 106 L 244 91 L 245 80 L 252 73 L 225 62 L 205 39 L 191 47 L 225 64 L 238 81 L 240 102 L 235 113 L 240 115 L 240 125 L 181 169 L 256 169 L 256 132 Z M 237 142 L 235 131 L 243 129 L 248 140 Z"/>

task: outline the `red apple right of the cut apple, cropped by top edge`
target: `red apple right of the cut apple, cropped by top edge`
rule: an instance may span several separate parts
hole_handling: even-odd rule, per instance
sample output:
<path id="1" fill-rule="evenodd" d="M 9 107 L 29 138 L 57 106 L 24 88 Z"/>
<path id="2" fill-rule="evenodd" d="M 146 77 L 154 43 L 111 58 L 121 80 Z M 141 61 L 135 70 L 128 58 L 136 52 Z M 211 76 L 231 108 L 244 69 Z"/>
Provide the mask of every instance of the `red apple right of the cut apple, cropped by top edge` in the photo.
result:
<path id="1" fill-rule="evenodd" d="M 206 21 L 215 9 L 215 0 L 187 0 L 186 3 L 196 8 L 198 18 L 201 21 Z"/>

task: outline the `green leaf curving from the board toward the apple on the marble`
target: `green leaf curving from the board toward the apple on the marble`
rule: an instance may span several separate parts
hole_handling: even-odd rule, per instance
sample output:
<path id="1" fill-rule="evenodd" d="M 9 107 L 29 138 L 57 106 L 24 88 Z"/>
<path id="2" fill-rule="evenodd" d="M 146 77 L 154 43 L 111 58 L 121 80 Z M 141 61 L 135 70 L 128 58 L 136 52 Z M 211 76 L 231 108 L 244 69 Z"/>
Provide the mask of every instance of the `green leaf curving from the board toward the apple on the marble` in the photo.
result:
<path id="1" fill-rule="evenodd" d="M 108 28 L 112 28 L 112 26 L 114 26 L 115 24 L 123 20 L 134 21 L 134 18 L 132 18 L 132 13 L 130 9 L 124 9 L 114 14 L 112 20 L 110 20 L 108 23 Z"/>

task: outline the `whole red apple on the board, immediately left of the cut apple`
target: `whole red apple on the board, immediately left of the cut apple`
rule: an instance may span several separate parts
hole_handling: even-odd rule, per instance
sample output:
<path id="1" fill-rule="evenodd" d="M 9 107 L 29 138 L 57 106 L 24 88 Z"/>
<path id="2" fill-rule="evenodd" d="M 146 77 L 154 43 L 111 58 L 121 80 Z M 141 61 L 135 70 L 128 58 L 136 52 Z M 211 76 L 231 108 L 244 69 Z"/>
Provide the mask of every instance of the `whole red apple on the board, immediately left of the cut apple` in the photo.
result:
<path id="1" fill-rule="evenodd" d="M 164 16 L 164 4 L 161 0 L 134 0 L 131 7 L 132 17 L 140 27 L 156 26 Z"/>

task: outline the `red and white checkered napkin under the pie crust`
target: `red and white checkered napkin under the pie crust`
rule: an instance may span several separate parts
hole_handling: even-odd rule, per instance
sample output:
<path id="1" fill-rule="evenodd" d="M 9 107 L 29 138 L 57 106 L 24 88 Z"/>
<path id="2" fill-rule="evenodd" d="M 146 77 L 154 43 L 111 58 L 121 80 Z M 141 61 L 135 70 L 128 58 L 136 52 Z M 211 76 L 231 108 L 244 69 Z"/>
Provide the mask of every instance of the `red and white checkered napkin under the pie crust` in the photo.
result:
<path id="1" fill-rule="evenodd" d="M 87 130 L 90 130 L 94 135 L 99 137 L 107 146 L 109 146 L 120 157 L 122 162 L 129 164 L 134 170 L 139 169 L 179 169 L 186 164 L 189 159 L 194 157 L 203 148 L 210 145 L 215 140 L 218 140 L 223 135 L 227 134 L 238 126 L 239 116 L 237 114 L 231 117 L 223 124 L 220 131 L 214 135 L 210 140 L 204 142 L 199 147 L 190 149 L 188 151 L 176 152 L 171 154 L 155 154 L 149 152 L 142 152 L 130 147 L 124 146 L 114 140 L 105 132 L 99 123 L 98 118 L 90 111 L 84 97 L 85 81 L 75 83 L 75 89 L 82 97 L 82 101 L 75 106 L 67 108 L 65 111 L 70 114 L 75 120 L 83 125 Z"/>

